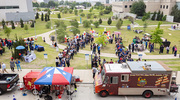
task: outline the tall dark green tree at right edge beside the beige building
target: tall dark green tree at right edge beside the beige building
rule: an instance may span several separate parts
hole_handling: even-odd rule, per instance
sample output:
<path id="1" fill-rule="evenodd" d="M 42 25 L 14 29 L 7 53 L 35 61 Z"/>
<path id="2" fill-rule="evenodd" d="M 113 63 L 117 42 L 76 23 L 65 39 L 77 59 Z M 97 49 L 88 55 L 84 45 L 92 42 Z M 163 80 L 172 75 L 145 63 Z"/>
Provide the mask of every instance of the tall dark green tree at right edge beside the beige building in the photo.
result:
<path id="1" fill-rule="evenodd" d="M 177 5 L 172 7 L 171 15 L 174 16 L 174 21 L 175 22 L 180 22 L 180 10 L 178 10 Z"/>

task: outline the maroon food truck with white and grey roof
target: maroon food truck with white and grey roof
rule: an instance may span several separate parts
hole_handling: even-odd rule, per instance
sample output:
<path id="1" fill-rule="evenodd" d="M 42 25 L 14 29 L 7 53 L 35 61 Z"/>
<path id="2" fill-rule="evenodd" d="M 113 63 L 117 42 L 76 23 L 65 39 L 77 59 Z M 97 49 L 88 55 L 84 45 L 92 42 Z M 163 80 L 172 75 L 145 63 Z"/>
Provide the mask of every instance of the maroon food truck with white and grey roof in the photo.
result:
<path id="1" fill-rule="evenodd" d="M 104 64 L 105 74 L 96 74 L 95 93 L 108 95 L 169 95 L 178 92 L 176 75 L 161 62 L 137 61 Z"/>

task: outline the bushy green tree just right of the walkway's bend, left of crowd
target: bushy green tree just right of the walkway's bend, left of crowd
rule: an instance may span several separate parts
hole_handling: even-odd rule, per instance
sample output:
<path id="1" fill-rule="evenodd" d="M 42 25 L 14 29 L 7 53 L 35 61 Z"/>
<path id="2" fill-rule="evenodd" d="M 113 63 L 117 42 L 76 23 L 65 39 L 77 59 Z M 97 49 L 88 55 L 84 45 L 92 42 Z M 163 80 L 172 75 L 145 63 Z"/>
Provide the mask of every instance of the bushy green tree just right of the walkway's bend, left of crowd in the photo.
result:
<path id="1" fill-rule="evenodd" d="M 56 33 L 57 33 L 57 40 L 59 43 L 64 42 L 65 36 L 68 36 L 66 30 L 64 30 L 62 27 L 59 27 Z"/>

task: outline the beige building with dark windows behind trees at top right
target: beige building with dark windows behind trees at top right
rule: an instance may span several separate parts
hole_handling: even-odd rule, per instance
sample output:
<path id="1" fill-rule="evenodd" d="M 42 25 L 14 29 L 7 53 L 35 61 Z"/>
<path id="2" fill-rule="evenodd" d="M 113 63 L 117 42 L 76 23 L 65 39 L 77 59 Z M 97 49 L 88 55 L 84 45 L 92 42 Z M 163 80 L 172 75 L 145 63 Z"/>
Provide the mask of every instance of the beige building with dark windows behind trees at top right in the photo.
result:
<path id="1" fill-rule="evenodd" d="M 132 4 L 136 1 L 138 0 L 116 0 L 112 3 L 113 15 L 129 13 Z M 144 0 L 144 3 L 146 5 L 146 12 L 153 13 L 160 10 L 164 15 L 169 15 L 172 7 L 174 7 L 175 4 L 178 4 L 177 1 L 179 1 L 180 5 L 180 0 Z"/>

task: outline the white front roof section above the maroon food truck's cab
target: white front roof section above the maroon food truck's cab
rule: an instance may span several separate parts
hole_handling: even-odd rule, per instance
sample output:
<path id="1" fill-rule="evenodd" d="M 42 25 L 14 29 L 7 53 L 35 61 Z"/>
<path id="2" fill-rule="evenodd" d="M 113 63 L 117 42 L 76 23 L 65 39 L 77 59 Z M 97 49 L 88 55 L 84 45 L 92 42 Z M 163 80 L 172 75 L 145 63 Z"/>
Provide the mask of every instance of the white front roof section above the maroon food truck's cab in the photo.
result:
<path id="1" fill-rule="evenodd" d="M 131 70 L 126 63 L 123 64 L 105 64 L 105 70 L 107 73 L 131 73 Z"/>

